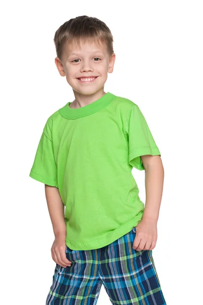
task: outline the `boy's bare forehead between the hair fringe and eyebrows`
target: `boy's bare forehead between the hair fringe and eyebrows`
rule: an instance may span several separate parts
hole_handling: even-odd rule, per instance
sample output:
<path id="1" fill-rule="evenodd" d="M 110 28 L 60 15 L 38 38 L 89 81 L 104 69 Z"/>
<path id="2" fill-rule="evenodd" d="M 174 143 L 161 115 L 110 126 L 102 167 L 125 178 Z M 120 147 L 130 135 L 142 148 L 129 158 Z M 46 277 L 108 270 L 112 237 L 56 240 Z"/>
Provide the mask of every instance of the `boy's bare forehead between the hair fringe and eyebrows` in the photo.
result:
<path id="1" fill-rule="evenodd" d="M 64 52 L 66 57 L 70 55 L 82 55 L 86 53 L 94 53 L 101 52 L 104 55 L 108 53 L 107 45 L 103 42 L 95 42 L 95 41 L 80 41 L 80 42 L 66 42 L 64 46 Z"/>

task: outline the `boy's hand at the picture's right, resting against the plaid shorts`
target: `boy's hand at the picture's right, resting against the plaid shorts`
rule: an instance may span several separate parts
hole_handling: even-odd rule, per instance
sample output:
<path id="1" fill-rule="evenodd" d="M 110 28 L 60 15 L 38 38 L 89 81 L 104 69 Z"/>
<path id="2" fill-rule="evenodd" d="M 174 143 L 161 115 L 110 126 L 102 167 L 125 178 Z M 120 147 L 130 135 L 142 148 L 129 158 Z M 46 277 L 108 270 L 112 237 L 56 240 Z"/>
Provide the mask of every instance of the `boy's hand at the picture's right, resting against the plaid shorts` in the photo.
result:
<path id="1" fill-rule="evenodd" d="M 136 227 L 136 237 L 132 249 L 137 251 L 152 250 L 157 241 L 157 222 L 154 220 L 141 220 Z"/>

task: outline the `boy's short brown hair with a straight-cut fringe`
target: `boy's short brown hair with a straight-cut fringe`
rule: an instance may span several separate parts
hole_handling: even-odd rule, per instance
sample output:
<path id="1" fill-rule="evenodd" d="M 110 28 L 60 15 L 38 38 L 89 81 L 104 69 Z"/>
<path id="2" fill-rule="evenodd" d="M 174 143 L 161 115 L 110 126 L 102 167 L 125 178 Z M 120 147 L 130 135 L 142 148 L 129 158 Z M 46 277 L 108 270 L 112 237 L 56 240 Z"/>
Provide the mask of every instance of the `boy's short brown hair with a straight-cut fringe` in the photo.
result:
<path id="1" fill-rule="evenodd" d="M 106 43 L 109 55 L 114 53 L 113 36 L 106 23 L 95 17 L 83 15 L 66 21 L 55 32 L 54 44 L 57 57 L 61 59 L 66 42 L 74 42 L 80 46 L 81 42 L 88 40 L 93 40 L 98 44 Z"/>

